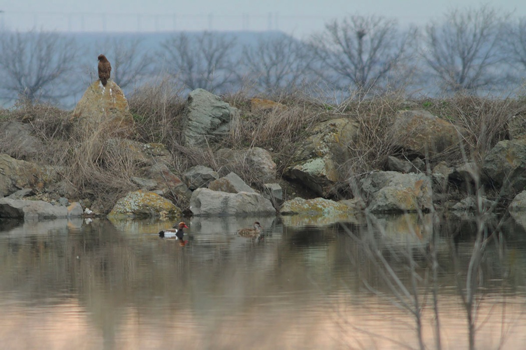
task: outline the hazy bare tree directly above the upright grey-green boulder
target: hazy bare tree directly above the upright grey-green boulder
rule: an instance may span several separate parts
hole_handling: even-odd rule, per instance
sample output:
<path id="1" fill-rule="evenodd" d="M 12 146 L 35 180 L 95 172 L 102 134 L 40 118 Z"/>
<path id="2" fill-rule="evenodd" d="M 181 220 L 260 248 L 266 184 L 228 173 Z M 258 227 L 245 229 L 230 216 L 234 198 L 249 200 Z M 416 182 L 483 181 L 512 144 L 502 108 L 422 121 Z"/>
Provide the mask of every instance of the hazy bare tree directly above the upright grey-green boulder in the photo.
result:
<path id="1" fill-rule="evenodd" d="M 159 56 L 169 75 L 182 80 L 189 89 L 214 92 L 237 80 L 237 63 L 231 55 L 235 44 L 234 38 L 206 31 L 196 36 L 180 33 L 161 44 Z"/>

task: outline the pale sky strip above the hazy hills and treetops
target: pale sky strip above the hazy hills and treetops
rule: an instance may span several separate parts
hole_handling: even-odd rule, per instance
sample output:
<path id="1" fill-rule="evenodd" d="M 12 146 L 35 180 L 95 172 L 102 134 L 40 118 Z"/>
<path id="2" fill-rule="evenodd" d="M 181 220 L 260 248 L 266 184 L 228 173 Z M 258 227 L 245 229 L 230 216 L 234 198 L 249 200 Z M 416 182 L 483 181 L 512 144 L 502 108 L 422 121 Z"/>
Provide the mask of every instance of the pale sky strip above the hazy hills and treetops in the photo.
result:
<path id="1" fill-rule="evenodd" d="M 349 14 L 422 25 L 477 0 L 0 0 L 0 26 L 58 31 L 281 30 L 297 37 Z M 525 0 L 484 2 L 526 17 Z"/>

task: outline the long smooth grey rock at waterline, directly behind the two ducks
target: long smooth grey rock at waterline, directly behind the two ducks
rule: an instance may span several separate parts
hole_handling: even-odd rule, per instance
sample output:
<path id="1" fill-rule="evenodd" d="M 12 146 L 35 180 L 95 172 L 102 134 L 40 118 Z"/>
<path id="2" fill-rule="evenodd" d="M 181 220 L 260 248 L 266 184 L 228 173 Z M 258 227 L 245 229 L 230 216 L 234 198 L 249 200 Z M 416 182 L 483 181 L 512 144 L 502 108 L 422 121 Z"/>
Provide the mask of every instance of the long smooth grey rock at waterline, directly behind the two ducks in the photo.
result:
<path id="1" fill-rule="evenodd" d="M 258 193 L 227 193 L 198 188 L 190 198 L 190 210 L 195 216 L 275 215 L 276 209 Z"/>

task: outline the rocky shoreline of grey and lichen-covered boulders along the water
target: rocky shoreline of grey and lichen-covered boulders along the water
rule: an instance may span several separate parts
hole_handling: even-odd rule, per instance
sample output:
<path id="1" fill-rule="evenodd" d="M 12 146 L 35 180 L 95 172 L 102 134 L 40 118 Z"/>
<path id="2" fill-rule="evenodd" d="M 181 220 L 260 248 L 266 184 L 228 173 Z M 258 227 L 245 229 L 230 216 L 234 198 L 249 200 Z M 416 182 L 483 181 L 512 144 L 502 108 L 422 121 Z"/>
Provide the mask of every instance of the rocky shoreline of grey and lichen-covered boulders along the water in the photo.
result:
<path id="1" fill-rule="evenodd" d="M 251 99 L 252 113 L 287 113 L 278 102 Z M 47 219 L 82 216 L 113 218 L 193 216 L 419 213 L 526 205 L 526 117 L 511 115 L 507 135 L 480 152 L 466 155 L 470 131 L 429 111 L 407 105 L 393 112 L 385 142 L 390 151 L 381 168 L 363 174 L 342 171 L 360 144 L 363 125 L 345 114 L 331 115 L 307 128 L 292 161 L 278 174 L 277 150 L 248 145 L 221 147 L 221 140 L 244 123 L 239 109 L 208 91 L 192 91 L 180 128 L 182 147 L 214 154 L 217 168 L 196 165 L 174 168 L 162 143 L 133 140 L 134 119 L 122 91 L 98 81 L 86 91 L 72 118 L 95 133 L 104 126 L 102 147 L 117 160 L 140 166 L 129 176 L 135 187 L 111 210 L 92 205 L 88 194 L 72 188 L 71 169 L 31 160 L 43 146 L 27 123 L 0 124 L 4 138 L 16 143 L 26 160 L 0 154 L 0 218 Z M 279 150 L 278 150 L 279 151 Z M 104 161 L 104 160 L 103 160 Z M 349 167 L 347 167 L 348 169 Z M 247 173 L 252 186 L 241 177 Z M 118 176 L 119 174 L 115 174 Z M 254 186 L 256 184 L 256 186 Z M 79 195 L 80 194 L 80 195 Z M 304 198 L 301 198 L 304 197 Z M 108 213 L 109 211 L 109 213 Z"/>

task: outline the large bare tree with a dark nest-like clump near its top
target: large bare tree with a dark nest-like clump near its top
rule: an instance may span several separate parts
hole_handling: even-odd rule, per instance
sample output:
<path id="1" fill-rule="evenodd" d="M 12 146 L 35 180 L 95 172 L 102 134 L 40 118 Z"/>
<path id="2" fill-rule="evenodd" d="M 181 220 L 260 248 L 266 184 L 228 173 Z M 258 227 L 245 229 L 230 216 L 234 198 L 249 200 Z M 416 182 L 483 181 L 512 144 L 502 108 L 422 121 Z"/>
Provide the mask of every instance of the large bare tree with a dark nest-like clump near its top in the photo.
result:
<path id="1" fill-rule="evenodd" d="M 402 33 L 395 20 L 350 16 L 334 20 L 310 39 L 317 73 L 337 88 L 385 87 L 390 73 L 409 58 L 416 29 Z"/>

